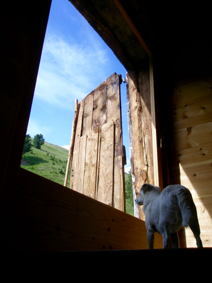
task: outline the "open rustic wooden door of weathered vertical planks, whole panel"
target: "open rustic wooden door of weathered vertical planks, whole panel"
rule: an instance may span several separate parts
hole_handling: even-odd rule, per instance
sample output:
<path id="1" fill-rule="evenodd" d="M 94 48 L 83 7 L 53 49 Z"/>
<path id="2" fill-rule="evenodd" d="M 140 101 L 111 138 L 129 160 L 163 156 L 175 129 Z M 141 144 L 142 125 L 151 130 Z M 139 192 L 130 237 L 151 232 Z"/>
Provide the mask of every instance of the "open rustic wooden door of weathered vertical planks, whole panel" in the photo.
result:
<path id="1" fill-rule="evenodd" d="M 71 189 L 125 211 L 121 83 L 114 73 L 79 102 L 69 157 Z"/>

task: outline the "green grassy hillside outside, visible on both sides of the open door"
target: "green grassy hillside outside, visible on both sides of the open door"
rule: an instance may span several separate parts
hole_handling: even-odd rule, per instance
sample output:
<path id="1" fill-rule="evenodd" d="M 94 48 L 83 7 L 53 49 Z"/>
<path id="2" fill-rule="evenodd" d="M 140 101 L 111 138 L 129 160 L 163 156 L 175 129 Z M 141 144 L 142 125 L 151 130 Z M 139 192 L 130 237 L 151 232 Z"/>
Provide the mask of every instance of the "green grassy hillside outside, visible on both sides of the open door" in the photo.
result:
<path id="1" fill-rule="evenodd" d="M 23 154 L 21 167 L 37 175 L 43 176 L 60 185 L 64 185 L 68 150 L 45 141 L 41 149 L 32 147 L 32 151 Z M 124 174 L 126 189 L 126 212 L 134 215 L 132 177 Z M 70 171 L 67 187 L 70 186 Z"/>

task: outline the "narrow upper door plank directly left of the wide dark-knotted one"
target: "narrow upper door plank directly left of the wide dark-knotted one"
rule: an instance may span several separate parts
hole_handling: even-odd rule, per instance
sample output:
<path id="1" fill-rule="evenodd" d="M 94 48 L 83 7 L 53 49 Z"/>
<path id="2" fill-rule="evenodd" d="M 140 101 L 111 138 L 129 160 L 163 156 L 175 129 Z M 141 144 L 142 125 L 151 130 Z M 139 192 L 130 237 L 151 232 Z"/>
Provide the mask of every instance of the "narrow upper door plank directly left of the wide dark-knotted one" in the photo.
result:
<path id="1" fill-rule="evenodd" d="M 84 114 L 83 114 L 83 129 L 82 136 L 87 134 L 92 130 L 92 113 L 93 113 L 93 101 L 94 101 L 94 91 L 83 98 Z"/>

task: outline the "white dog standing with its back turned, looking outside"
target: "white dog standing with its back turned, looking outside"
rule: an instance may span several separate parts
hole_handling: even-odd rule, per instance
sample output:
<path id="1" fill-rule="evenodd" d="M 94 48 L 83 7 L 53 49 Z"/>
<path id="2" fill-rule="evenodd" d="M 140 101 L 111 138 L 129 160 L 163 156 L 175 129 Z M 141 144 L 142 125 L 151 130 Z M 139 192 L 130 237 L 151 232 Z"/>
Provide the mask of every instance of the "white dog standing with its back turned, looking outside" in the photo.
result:
<path id="1" fill-rule="evenodd" d="M 196 245 L 202 248 L 196 206 L 187 188 L 170 185 L 161 192 L 159 187 L 146 183 L 139 194 L 135 201 L 143 205 L 149 249 L 154 246 L 155 232 L 163 236 L 163 248 L 168 248 L 169 236 L 173 248 L 179 248 L 177 231 L 182 225 L 191 228 Z"/>

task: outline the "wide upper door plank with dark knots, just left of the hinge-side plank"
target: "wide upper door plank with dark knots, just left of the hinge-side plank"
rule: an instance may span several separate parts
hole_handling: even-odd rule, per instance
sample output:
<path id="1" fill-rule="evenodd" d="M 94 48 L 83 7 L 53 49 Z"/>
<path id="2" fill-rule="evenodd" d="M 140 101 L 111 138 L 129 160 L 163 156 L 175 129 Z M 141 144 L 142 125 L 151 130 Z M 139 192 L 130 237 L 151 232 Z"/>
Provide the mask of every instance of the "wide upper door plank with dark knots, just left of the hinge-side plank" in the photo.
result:
<path id="1" fill-rule="evenodd" d="M 107 80 L 94 89 L 92 130 L 106 123 Z"/>

